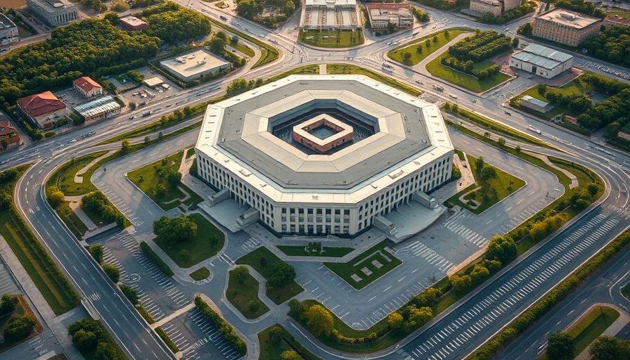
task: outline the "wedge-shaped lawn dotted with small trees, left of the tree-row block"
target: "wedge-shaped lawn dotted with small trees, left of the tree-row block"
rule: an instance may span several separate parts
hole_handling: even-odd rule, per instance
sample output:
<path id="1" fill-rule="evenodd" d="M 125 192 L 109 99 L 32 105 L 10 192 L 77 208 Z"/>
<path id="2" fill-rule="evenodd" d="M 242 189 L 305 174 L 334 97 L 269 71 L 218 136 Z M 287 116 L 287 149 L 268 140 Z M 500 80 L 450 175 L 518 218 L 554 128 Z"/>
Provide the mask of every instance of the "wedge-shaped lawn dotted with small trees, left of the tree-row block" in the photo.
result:
<path id="1" fill-rule="evenodd" d="M 402 44 L 401 46 L 398 46 L 394 50 L 388 51 L 387 57 L 404 65 L 409 65 L 409 66 L 417 65 L 418 63 L 420 63 L 420 61 L 427 58 L 427 56 L 430 56 L 432 53 L 437 51 L 437 49 L 440 49 L 442 46 L 448 44 L 449 41 L 458 37 L 459 34 L 473 31 L 473 29 L 467 29 L 467 28 L 463 28 L 462 30 L 455 30 L 455 29 L 457 28 L 449 29 L 448 37 L 446 37 L 446 35 L 444 34 L 444 31 L 441 31 L 441 32 L 438 32 L 437 34 L 435 33 L 428 34 L 424 37 L 421 37 L 420 39 L 409 41 L 406 44 Z M 432 38 L 434 36 L 437 37 L 437 43 L 433 42 Z M 429 43 L 430 43 L 429 47 L 425 45 L 425 41 L 427 40 L 429 40 Z M 421 53 L 418 53 L 418 51 L 416 50 L 418 46 L 422 46 Z M 409 59 L 403 58 L 403 54 L 408 51 L 409 53 L 411 53 L 411 58 Z"/>

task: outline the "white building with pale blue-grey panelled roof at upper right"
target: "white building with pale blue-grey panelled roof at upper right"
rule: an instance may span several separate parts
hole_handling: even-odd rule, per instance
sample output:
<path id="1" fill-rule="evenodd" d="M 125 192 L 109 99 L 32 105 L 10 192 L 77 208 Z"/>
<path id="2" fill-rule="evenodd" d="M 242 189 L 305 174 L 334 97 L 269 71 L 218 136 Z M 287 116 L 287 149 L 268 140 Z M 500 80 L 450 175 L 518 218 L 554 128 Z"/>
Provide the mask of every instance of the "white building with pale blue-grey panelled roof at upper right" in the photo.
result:
<path id="1" fill-rule="evenodd" d="M 545 46 L 531 44 L 510 57 L 510 66 L 551 79 L 573 66 L 573 56 Z"/>

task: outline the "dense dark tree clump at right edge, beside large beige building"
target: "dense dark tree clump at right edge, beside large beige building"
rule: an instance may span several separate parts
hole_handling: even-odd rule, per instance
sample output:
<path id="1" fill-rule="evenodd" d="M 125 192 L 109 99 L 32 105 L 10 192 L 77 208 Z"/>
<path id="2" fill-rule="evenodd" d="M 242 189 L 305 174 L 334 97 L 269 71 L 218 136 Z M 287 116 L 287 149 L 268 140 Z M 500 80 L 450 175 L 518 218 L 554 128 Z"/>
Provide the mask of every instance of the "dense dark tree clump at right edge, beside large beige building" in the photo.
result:
<path id="1" fill-rule="evenodd" d="M 630 68 L 630 27 L 607 27 L 586 39 L 579 47 L 589 51 L 593 58 Z"/>

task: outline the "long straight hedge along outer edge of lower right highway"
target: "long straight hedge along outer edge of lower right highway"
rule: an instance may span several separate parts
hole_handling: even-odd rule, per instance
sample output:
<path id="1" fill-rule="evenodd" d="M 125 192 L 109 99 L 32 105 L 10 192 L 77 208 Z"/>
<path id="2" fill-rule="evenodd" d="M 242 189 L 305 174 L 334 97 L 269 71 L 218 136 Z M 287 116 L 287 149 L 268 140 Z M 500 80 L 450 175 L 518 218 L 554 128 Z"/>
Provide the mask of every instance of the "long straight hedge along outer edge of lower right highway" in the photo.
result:
<path id="1" fill-rule="evenodd" d="M 591 274 L 602 268 L 609 259 L 629 243 L 630 232 L 623 233 L 615 240 L 612 240 L 610 244 L 600 250 L 589 262 L 580 266 L 571 276 L 558 284 L 550 293 L 542 297 L 536 304 L 518 316 L 507 328 L 501 330 L 494 338 L 491 338 L 482 347 L 477 349 L 469 359 L 494 359 L 494 356 L 512 342 L 512 340 L 518 335 L 525 333 L 525 330 L 534 325 L 536 321 L 541 319 L 551 308 L 558 304 L 558 302 L 569 296 L 581 283 L 589 278 Z"/>

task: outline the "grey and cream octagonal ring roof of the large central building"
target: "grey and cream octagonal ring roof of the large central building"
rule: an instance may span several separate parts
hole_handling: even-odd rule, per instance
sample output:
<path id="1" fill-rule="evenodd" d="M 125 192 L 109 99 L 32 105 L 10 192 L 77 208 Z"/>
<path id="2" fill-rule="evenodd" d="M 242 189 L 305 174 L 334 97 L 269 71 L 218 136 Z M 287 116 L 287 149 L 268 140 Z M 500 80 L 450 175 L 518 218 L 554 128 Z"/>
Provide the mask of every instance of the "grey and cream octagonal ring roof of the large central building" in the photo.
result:
<path id="1" fill-rule="evenodd" d="M 330 155 L 308 155 L 271 134 L 333 108 L 371 122 L 375 134 Z M 195 149 L 278 201 L 335 203 L 380 191 L 452 144 L 432 103 L 361 75 L 293 75 L 210 105 Z"/>

